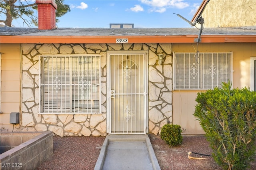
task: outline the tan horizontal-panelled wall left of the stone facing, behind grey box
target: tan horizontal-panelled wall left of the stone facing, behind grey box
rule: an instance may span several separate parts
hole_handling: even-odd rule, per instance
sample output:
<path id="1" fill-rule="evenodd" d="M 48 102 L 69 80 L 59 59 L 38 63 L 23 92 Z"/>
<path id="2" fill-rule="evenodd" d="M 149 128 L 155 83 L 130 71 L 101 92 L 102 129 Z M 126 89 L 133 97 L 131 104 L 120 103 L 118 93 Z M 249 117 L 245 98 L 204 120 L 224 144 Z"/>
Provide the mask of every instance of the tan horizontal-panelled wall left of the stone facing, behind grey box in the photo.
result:
<path id="1" fill-rule="evenodd" d="M 0 44 L 1 75 L 1 114 L 0 128 L 12 131 L 10 113 L 20 113 L 20 44 Z M 14 125 L 14 131 L 20 125 Z"/>

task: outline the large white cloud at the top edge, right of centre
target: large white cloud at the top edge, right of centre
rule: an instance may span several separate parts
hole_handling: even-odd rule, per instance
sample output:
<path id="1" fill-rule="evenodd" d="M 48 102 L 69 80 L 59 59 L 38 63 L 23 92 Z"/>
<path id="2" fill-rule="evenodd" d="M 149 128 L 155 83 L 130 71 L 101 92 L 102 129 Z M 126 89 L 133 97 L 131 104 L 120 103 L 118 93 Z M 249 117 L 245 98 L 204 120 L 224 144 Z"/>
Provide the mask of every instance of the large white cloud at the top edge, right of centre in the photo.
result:
<path id="1" fill-rule="evenodd" d="M 163 13 L 166 8 L 178 8 L 183 9 L 188 7 L 188 3 L 183 2 L 183 0 L 140 0 L 143 4 L 151 6 L 151 12 Z"/>

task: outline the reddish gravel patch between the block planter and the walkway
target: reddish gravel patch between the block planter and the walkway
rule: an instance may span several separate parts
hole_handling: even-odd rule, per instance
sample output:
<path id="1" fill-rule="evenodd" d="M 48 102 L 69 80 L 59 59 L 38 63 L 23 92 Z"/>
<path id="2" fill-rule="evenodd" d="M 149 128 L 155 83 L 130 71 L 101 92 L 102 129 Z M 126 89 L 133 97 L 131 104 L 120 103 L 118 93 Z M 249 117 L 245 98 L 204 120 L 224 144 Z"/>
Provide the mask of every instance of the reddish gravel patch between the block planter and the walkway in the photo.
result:
<path id="1" fill-rule="evenodd" d="M 53 156 L 37 170 L 93 170 L 105 137 L 53 138 Z"/>

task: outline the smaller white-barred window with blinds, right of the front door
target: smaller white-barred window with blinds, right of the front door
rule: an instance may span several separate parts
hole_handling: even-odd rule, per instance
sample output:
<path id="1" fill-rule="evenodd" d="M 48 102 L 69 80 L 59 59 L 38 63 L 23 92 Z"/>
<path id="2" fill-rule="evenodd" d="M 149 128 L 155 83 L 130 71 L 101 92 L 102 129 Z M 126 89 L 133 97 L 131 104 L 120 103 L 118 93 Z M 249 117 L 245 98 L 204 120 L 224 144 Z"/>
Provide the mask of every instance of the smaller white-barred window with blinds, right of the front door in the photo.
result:
<path id="1" fill-rule="evenodd" d="M 174 89 L 213 89 L 232 81 L 232 52 L 174 53 Z"/>

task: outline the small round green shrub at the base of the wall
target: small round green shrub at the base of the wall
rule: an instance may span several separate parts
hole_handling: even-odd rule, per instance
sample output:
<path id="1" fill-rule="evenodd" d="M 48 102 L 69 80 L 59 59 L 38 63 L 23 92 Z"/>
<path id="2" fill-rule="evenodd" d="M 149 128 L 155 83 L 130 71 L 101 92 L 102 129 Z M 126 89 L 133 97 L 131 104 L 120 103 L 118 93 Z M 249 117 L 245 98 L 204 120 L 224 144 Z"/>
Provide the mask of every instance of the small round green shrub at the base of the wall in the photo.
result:
<path id="1" fill-rule="evenodd" d="M 175 146 L 177 144 L 182 144 L 181 132 L 180 125 L 166 124 L 161 128 L 160 136 L 168 145 Z"/>

